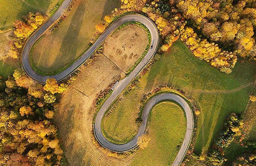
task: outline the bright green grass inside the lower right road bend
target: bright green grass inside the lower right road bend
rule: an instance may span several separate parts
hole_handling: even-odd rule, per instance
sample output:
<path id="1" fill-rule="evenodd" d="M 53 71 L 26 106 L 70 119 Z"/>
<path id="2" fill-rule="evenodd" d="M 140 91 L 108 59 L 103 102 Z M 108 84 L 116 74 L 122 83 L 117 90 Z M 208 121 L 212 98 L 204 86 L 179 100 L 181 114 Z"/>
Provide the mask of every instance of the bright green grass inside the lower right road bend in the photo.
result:
<path id="1" fill-rule="evenodd" d="M 150 113 L 147 148 L 139 150 L 131 165 L 171 165 L 186 133 L 184 111 L 170 101 L 158 103 Z"/>

